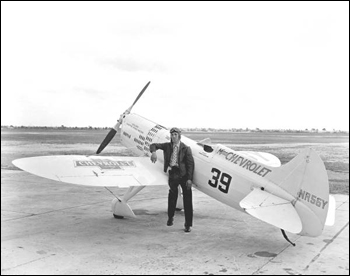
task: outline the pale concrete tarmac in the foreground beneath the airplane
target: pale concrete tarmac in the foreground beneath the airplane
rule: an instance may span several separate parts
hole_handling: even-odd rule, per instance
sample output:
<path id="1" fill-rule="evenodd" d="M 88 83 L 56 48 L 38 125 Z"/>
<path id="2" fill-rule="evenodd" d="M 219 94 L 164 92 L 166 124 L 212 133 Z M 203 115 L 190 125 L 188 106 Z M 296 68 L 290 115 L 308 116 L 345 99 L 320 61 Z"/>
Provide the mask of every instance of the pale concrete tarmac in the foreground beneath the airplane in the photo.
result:
<path id="1" fill-rule="evenodd" d="M 109 147 L 119 151 L 117 145 Z M 77 148 L 86 153 L 96 145 L 30 144 L 28 140 L 22 144 L 2 139 L 2 275 L 349 275 L 348 195 L 334 195 L 335 225 L 325 227 L 321 236 L 287 233 L 296 243 L 293 247 L 276 227 L 195 189 L 194 226 L 191 233 L 184 233 L 183 211 L 177 212 L 173 226 L 166 226 L 166 186 L 143 189 L 129 202 L 137 218 L 119 220 L 112 216 L 114 196 L 106 189 L 51 181 L 10 163 L 39 150 L 40 155 L 63 150 L 76 154 Z M 348 162 L 348 142 L 345 148 Z M 330 181 L 340 177 L 347 177 L 348 182 L 348 172 L 329 174 Z M 118 195 L 126 191 L 110 190 Z"/>

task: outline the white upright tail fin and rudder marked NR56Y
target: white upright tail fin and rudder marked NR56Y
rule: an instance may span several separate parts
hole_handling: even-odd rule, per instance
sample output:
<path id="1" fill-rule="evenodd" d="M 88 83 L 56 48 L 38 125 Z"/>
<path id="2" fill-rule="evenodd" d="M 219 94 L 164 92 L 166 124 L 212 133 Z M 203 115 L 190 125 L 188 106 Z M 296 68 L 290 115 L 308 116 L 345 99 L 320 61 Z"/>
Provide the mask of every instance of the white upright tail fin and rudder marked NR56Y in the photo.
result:
<path id="1" fill-rule="evenodd" d="M 307 149 L 289 163 L 274 169 L 270 181 L 291 194 L 302 222 L 300 235 L 319 236 L 329 208 L 328 175 L 318 154 Z"/>

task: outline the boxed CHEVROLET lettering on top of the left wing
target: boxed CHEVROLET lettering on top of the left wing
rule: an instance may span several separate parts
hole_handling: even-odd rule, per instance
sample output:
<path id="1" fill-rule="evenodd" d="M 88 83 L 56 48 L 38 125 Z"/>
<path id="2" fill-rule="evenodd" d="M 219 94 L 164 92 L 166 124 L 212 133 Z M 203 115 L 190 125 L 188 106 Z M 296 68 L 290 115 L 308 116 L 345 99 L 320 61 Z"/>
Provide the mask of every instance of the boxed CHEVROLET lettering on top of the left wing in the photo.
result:
<path id="1" fill-rule="evenodd" d="M 122 170 L 122 167 L 136 167 L 134 161 L 105 159 L 74 160 L 75 167 L 99 167 L 102 170 Z"/>

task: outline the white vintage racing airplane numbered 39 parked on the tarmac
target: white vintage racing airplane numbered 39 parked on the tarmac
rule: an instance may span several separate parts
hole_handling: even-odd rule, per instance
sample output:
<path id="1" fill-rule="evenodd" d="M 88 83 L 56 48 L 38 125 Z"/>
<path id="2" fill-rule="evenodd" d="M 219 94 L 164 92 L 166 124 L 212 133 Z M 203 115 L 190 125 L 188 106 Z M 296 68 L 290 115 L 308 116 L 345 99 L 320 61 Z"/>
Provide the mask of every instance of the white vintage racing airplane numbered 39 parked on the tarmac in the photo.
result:
<path id="1" fill-rule="evenodd" d="M 128 200 L 145 186 L 168 184 L 163 154 L 158 151 L 158 162 L 152 163 L 149 146 L 170 141 L 169 130 L 130 113 L 149 84 L 120 115 L 95 155 L 30 157 L 14 160 L 13 164 L 29 173 L 65 183 L 128 187 L 123 197 L 112 201 L 112 211 L 116 218 L 135 217 Z M 136 157 L 98 156 L 116 133 Z M 334 223 L 335 200 L 329 195 L 327 171 L 312 149 L 281 166 L 280 160 L 269 153 L 235 151 L 214 145 L 209 139 L 197 142 L 184 135 L 181 140 L 192 149 L 196 189 L 280 228 L 287 240 L 285 231 L 315 237 L 322 233 L 326 219 L 328 225 Z M 182 209 L 180 189 L 179 194 L 177 207 Z"/>

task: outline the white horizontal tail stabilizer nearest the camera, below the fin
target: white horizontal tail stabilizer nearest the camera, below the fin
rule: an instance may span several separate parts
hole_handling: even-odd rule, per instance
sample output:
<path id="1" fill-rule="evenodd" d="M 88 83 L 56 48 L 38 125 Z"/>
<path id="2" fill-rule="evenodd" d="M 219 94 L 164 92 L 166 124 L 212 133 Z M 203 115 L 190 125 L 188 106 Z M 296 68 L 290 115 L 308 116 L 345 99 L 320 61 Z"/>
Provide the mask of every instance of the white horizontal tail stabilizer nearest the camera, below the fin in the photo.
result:
<path id="1" fill-rule="evenodd" d="M 301 220 L 291 202 L 254 189 L 239 205 L 253 217 L 291 233 L 302 230 Z"/>

